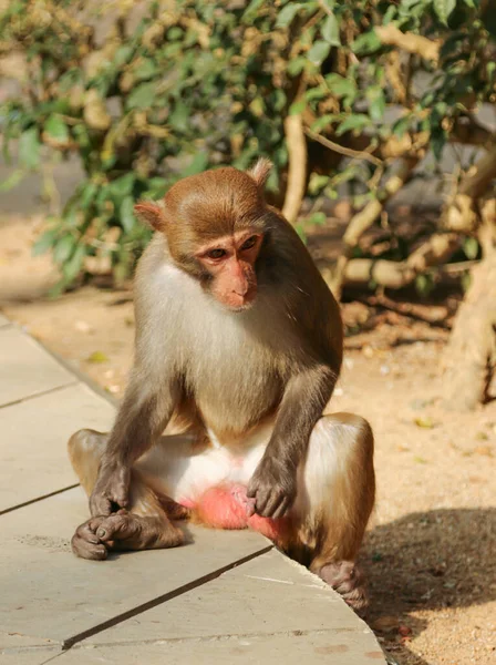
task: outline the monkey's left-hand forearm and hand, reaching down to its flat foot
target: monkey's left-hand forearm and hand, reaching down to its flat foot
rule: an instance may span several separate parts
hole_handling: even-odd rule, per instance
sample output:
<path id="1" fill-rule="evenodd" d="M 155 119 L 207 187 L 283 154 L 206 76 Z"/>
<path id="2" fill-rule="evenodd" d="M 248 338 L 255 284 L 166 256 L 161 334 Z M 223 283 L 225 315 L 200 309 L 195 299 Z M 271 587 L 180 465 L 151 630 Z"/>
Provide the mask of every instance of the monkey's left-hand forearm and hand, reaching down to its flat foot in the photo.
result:
<path id="1" fill-rule="evenodd" d="M 157 385 L 154 377 L 133 371 L 90 497 L 93 516 L 127 505 L 131 468 L 164 431 L 177 401 L 176 383 Z"/>

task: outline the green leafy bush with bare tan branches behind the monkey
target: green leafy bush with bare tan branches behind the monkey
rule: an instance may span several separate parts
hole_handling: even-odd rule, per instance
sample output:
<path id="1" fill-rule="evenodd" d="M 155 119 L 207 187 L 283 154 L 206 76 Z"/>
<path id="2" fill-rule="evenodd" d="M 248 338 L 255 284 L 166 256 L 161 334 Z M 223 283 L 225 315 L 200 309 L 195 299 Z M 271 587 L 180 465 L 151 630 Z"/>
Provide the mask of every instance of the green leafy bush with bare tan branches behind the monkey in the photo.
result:
<path id="1" fill-rule="evenodd" d="M 361 184 L 355 204 L 364 208 L 328 275 L 337 293 L 350 280 L 397 287 L 421 276 L 426 284 L 432 265 L 459 246 L 447 226 L 441 247 L 432 245 L 431 229 L 423 241 L 432 252 L 396 244 L 384 254 L 393 260 L 373 275 L 359 247 L 428 147 L 437 160 L 448 142 L 494 150 L 494 136 L 474 116 L 483 102 L 495 102 L 488 2 L 100 6 L 12 0 L 0 20 L 0 48 L 27 62 L 22 93 L 2 106 L 6 145 L 19 140 L 20 168 L 7 185 L 39 166 L 42 145 L 76 153 L 84 166 L 84 180 L 35 247 L 52 249 L 61 288 L 83 272 L 127 277 L 148 239 L 133 215 L 136 200 L 159 197 L 178 177 L 219 164 L 246 168 L 259 155 L 273 161 L 269 191 L 275 200 L 287 193 L 283 212 L 302 234 L 304 195 L 313 198 L 310 221 L 319 223 L 324 198 L 344 182 Z M 108 31 L 97 43 L 102 21 Z M 418 85 L 421 75 L 428 85 Z M 390 106 L 397 119 L 385 123 Z M 454 193 L 468 200 L 445 218 L 462 239 L 476 237 L 478 198 L 494 175 L 493 160 L 475 191 L 461 171 Z M 475 241 L 468 254 L 476 253 Z"/>

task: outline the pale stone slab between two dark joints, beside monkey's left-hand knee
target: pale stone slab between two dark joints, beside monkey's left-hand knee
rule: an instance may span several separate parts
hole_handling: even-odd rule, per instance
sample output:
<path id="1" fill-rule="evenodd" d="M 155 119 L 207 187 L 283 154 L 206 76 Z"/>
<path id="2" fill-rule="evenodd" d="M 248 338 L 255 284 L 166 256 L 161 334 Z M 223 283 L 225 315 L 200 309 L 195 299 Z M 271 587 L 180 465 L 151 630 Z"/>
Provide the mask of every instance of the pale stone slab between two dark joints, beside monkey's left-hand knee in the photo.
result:
<path id="1" fill-rule="evenodd" d="M 0 513 L 75 484 L 69 437 L 82 427 L 107 431 L 114 417 L 83 383 L 0 409 Z"/>

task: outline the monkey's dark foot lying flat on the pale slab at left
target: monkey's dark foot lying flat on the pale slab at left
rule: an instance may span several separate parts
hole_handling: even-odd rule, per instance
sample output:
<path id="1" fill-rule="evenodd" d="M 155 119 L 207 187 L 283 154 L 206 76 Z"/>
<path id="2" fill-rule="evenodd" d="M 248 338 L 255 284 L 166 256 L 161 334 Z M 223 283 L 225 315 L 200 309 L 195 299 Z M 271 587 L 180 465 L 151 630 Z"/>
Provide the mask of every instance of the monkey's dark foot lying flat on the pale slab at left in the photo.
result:
<path id="1" fill-rule="evenodd" d="M 175 548 L 183 542 L 183 532 L 167 520 L 120 510 L 81 524 L 72 539 L 72 550 L 82 559 L 103 561 L 108 556 L 108 550 Z"/>

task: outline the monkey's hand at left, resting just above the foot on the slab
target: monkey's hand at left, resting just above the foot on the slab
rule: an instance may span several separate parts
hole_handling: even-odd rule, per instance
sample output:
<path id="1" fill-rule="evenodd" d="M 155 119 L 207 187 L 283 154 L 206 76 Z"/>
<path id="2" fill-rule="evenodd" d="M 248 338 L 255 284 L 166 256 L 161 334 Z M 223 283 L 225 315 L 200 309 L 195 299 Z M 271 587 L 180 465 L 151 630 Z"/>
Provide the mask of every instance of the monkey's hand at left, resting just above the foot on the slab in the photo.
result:
<path id="1" fill-rule="evenodd" d="M 131 469 L 123 464 L 102 462 L 99 478 L 90 497 L 92 516 L 110 515 L 126 508 L 131 482 Z"/>

